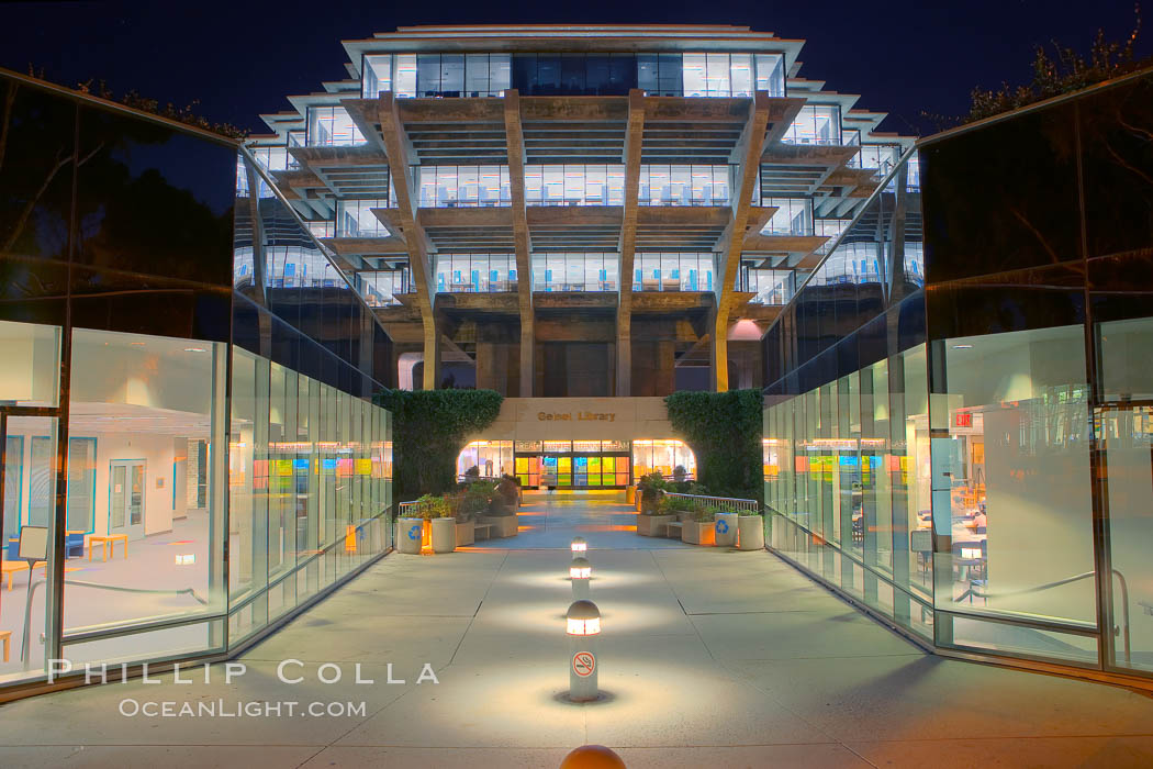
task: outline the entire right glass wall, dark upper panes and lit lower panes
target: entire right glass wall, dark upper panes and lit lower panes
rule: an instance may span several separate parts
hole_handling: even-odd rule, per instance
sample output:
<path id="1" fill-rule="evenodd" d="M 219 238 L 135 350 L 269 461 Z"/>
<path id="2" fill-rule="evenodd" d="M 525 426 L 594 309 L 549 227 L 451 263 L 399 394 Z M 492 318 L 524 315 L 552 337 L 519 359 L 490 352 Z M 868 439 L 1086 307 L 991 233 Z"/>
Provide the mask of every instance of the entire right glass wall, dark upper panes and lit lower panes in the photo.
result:
<path id="1" fill-rule="evenodd" d="M 1153 673 L 1151 97 L 924 140 L 766 336 L 773 546 L 939 648 Z"/>

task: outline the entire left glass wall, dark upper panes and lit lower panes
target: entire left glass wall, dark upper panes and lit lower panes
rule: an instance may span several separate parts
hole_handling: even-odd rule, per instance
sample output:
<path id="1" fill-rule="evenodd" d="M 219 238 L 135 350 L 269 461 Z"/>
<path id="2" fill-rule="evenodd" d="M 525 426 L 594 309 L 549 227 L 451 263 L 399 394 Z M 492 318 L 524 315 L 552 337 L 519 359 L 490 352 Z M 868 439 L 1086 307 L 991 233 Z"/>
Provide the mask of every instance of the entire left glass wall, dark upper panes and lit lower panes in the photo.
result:
<path id="1" fill-rule="evenodd" d="M 391 425 L 371 404 L 390 342 L 272 188 L 282 154 L 20 76 L 0 89 L 0 685 L 38 685 L 47 658 L 82 676 L 226 654 L 390 546 Z M 333 400 L 312 437 L 311 404 Z M 324 466 L 301 460 L 330 444 L 324 507 Z M 322 512 L 339 533 L 310 553 L 297 520 Z M 333 579 L 296 576 L 312 560 Z"/>

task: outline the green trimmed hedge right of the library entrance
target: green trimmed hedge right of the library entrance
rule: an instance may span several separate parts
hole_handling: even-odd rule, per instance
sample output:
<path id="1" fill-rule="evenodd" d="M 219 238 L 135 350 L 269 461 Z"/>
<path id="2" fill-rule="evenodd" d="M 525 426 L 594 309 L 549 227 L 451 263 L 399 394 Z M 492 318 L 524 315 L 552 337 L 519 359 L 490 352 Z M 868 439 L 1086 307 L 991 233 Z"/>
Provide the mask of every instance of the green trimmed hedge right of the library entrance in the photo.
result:
<path id="1" fill-rule="evenodd" d="M 675 392 L 664 404 L 710 495 L 764 502 L 760 390 Z"/>

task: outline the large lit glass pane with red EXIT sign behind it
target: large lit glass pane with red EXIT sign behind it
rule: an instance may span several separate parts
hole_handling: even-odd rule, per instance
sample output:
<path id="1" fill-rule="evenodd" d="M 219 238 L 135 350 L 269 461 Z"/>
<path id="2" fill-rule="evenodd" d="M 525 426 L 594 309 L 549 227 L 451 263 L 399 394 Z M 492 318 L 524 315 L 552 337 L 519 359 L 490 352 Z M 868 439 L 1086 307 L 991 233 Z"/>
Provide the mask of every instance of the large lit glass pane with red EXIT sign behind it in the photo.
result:
<path id="1" fill-rule="evenodd" d="M 937 605 L 1095 623 L 1092 579 L 1054 585 L 1094 568 L 1082 327 L 944 345 L 933 520 L 951 545 L 937 552 Z"/>

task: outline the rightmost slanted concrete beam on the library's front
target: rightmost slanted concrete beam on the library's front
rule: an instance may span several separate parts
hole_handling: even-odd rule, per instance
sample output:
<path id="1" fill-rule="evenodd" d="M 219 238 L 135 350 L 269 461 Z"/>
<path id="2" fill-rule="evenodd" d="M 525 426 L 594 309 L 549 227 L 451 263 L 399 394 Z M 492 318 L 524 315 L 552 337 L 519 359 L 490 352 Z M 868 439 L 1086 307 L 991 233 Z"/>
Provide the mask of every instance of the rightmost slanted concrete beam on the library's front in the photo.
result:
<path id="1" fill-rule="evenodd" d="M 719 276 L 716 287 L 717 307 L 713 317 L 713 384 L 716 392 L 729 390 L 729 316 L 734 303 L 733 287 L 753 209 L 756 169 L 764 152 L 764 136 L 774 101 L 764 91 L 756 91 L 738 142 L 740 156 L 737 158 L 737 179 L 733 183 L 732 221 L 725 232 L 725 242 L 716 270 Z"/>

